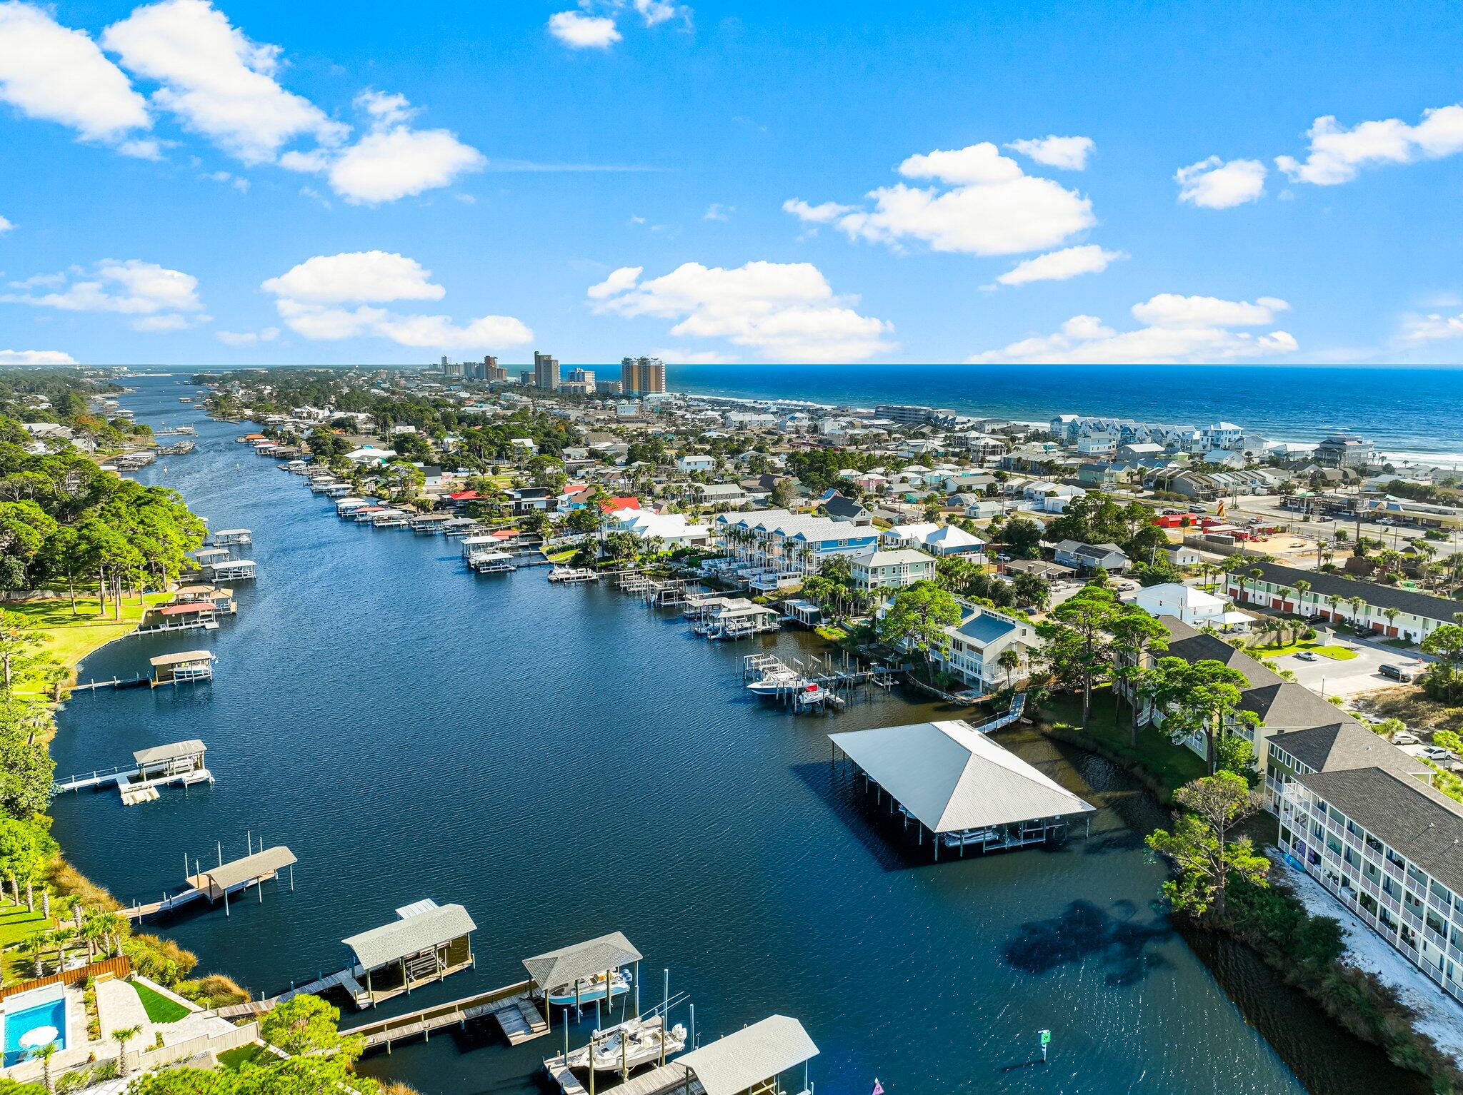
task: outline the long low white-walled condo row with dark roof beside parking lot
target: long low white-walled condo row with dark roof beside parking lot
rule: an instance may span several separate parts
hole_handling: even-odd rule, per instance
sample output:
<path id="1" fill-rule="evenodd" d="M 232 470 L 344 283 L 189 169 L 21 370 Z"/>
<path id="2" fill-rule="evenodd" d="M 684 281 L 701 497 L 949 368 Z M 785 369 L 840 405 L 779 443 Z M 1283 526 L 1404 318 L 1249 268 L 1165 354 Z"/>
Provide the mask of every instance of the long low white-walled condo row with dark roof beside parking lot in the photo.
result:
<path id="1" fill-rule="evenodd" d="M 1282 613 L 1306 617 L 1324 615 L 1333 623 L 1349 620 L 1378 634 L 1409 642 L 1422 642 L 1443 624 L 1453 623 L 1454 613 L 1463 611 L 1463 602 L 1419 594 L 1416 589 L 1384 586 L 1320 570 L 1296 570 L 1276 563 L 1257 563 L 1254 569 L 1260 570 L 1258 577 L 1251 577 L 1248 570 L 1229 575 L 1229 596 L 1239 604 L 1279 608 Z M 1301 594 L 1296 582 L 1306 582 L 1311 588 Z M 1352 604 L 1356 596 L 1362 599 L 1361 608 Z"/>

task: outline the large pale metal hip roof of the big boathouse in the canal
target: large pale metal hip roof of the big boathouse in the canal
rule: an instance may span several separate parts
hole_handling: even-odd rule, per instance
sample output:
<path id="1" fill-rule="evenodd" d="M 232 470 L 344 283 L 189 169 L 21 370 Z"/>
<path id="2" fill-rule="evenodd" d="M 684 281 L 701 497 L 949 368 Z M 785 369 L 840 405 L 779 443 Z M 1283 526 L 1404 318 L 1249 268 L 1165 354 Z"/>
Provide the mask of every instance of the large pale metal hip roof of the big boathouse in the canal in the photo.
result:
<path id="1" fill-rule="evenodd" d="M 1096 808 L 967 722 L 916 722 L 828 737 L 936 833 Z"/>

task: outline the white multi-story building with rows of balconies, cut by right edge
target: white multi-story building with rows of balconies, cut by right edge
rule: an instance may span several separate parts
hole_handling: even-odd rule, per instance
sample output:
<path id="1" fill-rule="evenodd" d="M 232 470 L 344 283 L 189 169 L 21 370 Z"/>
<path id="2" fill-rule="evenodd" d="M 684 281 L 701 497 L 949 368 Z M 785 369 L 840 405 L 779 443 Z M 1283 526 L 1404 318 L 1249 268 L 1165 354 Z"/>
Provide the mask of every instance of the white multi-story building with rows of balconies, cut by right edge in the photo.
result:
<path id="1" fill-rule="evenodd" d="M 1280 800 L 1280 849 L 1463 1003 L 1463 807 L 1381 768 L 1306 772 Z"/>

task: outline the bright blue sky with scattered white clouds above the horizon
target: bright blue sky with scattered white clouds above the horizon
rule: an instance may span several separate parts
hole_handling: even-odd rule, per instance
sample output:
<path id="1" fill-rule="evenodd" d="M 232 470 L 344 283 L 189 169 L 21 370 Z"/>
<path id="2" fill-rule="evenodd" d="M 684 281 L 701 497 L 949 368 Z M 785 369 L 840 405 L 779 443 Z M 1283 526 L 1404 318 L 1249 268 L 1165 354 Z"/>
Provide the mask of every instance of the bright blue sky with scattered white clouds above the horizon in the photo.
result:
<path id="1" fill-rule="evenodd" d="M 1456 363 L 1463 15 L 1334 12 L 0 1 L 0 361 Z"/>

